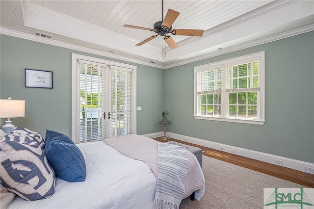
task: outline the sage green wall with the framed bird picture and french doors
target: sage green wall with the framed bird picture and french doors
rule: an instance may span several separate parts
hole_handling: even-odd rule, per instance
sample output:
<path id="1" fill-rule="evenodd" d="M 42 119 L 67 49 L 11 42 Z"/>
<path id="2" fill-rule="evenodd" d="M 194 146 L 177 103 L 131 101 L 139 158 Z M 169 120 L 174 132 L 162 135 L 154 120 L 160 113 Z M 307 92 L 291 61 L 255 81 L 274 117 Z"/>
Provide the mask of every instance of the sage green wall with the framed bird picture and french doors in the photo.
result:
<path id="1" fill-rule="evenodd" d="M 164 70 L 79 52 L 21 38 L 0 36 L 0 98 L 26 101 L 24 118 L 12 124 L 40 132 L 59 131 L 71 136 L 72 52 L 137 66 L 137 134 L 162 131 L 158 123 L 163 104 Z M 25 68 L 53 71 L 53 89 L 25 88 Z M 1 126 L 5 119 L 0 120 Z"/>

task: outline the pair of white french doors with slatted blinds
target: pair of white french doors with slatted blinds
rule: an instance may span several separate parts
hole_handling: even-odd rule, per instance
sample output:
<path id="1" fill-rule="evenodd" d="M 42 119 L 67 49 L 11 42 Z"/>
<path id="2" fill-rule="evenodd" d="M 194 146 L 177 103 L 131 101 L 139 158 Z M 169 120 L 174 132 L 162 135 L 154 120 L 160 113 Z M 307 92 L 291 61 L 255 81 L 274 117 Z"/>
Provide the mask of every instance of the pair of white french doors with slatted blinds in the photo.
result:
<path id="1" fill-rule="evenodd" d="M 76 59 L 76 117 L 72 135 L 76 135 L 77 143 L 134 133 L 132 70 Z"/>

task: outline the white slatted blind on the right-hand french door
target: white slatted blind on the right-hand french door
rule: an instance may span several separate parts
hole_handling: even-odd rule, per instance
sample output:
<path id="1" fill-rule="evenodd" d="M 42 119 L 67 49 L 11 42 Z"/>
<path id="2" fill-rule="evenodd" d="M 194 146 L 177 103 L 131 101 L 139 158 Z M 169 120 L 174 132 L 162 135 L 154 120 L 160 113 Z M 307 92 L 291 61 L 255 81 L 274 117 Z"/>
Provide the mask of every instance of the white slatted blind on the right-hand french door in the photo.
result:
<path id="1" fill-rule="evenodd" d="M 131 69 L 110 67 L 111 137 L 131 134 Z"/>

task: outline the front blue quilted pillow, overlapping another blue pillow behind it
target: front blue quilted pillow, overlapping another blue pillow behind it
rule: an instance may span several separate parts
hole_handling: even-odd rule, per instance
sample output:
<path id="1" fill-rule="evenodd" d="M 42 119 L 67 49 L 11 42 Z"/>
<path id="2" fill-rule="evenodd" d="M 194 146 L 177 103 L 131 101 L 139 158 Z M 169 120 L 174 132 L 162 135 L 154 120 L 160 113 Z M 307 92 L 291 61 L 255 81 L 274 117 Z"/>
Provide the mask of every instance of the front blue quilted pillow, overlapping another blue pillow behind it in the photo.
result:
<path id="1" fill-rule="evenodd" d="M 67 182 L 85 181 L 85 159 L 74 143 L 48 137 L 45 140 L 45 155 L 60 179 Z"/>

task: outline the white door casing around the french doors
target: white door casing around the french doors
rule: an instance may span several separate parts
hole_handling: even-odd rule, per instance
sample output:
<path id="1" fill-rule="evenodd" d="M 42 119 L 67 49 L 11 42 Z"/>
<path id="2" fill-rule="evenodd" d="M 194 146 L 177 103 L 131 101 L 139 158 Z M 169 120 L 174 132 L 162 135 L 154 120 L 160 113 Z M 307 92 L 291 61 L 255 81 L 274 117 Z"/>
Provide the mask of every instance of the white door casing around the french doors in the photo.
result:
<path id="1" fill-rule="evenodd" d="M 120 68 L 128 68 L 132 69 L 132 78 L 131 78 L 131 94 L 132 94 L 132 102 L 131 102 L 131 108 L 132 108 L 132 113 L 131 113 L 131 134 L 136 134 L 136 66 L 135 65 L 129 65 L 129 64 L 124 64 L 120 62 L 114 62 L 110 60 L 105 60 L 101 58 L 96 58 L 92 56 L 86 56 L 82 54 L 77 54 L 77 53 L 72 53 L 72 136 L 71 138 L 76 139 L 77 138 L 77 104 L 78 104 L 78 99 L 77 98 L 77 60 L 78 59 L 83 59 L 83 60 L 88 60 L 91 62 L 97 62 L 100 64 L 105 64 L 105 65 L 110 65 L 110 66 L 119 66 Z M 76 142 L 77 143 L 77 142 Z"/>

